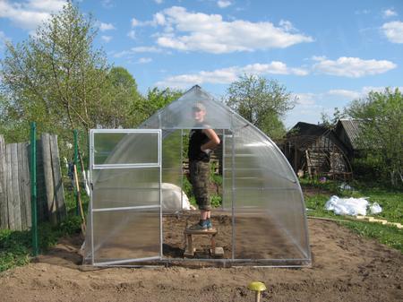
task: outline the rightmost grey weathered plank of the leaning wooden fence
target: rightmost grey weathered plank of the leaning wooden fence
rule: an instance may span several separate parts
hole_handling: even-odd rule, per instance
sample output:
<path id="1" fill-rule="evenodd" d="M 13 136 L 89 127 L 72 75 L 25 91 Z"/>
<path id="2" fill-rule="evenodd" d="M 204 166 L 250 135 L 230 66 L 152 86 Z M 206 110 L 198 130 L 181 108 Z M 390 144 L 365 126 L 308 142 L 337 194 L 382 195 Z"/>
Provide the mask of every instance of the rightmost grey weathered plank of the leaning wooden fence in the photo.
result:
<path id="1" fill-rule="evenodd" d="M 54 195 L 56 197 L 57 219 L 63 220 L 66 216 L 64 204 L 64 187 L 62 181 L 62 169 L 60 167 L 59 148 L 57 146 L 57 135 L 50 135 L 50 151 L 52 157 L 52 171 L 54 181 Z"/>

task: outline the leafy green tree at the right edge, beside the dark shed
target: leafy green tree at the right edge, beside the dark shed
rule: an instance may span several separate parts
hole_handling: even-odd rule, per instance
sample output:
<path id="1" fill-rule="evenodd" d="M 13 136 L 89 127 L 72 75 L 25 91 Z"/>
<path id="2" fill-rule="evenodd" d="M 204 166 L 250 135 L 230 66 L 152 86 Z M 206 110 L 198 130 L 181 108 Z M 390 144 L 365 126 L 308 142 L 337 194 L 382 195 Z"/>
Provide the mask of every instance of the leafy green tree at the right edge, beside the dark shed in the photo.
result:
<path id="1" fill-rule="evenodd" d="M 371 91 L 351 102 L 348 116 L 361 121 L 359 142 L 366 154 L 390 177 L 392 186 L 403 185 L 403 95 L 389 88 Z"/>

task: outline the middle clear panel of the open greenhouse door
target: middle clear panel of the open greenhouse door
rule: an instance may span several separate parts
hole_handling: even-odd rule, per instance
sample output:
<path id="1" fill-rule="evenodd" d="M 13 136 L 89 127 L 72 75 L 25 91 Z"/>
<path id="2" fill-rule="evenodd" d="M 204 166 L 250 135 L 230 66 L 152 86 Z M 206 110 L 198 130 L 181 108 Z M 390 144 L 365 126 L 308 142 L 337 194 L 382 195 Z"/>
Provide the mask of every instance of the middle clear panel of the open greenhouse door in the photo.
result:
<path id="1" fill-rule="evenodd" d="M 92 171 L 93 209 L 159 204 L 159 168 Z"/>

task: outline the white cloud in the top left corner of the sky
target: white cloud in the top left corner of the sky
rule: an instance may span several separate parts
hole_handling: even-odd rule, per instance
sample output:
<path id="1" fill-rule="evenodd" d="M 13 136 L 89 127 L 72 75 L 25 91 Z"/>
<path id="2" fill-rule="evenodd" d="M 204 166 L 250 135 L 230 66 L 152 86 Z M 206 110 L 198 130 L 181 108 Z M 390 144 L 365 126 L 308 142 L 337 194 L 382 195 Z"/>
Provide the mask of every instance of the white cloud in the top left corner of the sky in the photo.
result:
<path id="1" fill-rule="evenodd" d="M 24 30 L 35 30 L 42 22 L 63 8 L 64 0 L 28 0 L 11 3 L 0 0 L 0 18 L 11 20 Z"/>

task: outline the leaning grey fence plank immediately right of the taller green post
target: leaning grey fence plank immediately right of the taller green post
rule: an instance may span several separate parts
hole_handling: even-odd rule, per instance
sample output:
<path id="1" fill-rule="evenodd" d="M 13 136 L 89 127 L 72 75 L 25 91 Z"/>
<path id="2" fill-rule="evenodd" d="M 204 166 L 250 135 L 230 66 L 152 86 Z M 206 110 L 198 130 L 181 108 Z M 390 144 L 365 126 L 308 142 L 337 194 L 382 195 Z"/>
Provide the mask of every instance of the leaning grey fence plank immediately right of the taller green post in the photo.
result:
<path id="1" fill-rule="evenodd" d="M 45 187 L 47 195 L 47 211 L 49 214 L 49 221 L 52 225 L 57 224 L 57 212 L 56 212 L 56 196 L 54 194 L 54 182 L 52 172 L 52 156 L 50 151 L 50 138 L 49 134 L 41 135 L 42 144 L 42 158 L 43 169 L 45 176 Z"/>

